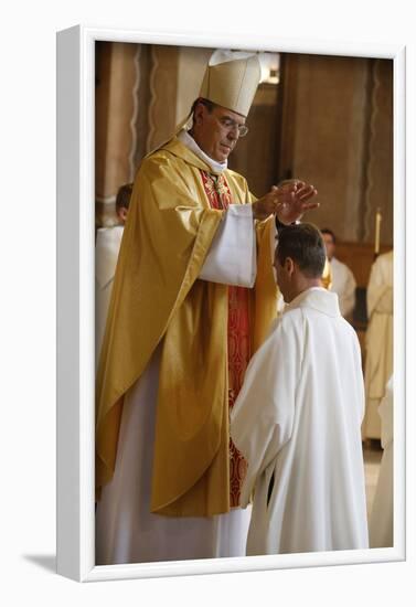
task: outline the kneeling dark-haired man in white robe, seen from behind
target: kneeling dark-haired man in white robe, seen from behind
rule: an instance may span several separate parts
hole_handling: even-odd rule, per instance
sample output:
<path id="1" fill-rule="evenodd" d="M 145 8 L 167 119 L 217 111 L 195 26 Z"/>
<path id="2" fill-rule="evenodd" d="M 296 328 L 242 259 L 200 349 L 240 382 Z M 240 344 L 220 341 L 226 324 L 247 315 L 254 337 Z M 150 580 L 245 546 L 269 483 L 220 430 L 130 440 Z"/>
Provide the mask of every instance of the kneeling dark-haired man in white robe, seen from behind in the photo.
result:
<path id="1" fill-rule="evenodd" d="M 355 331 L 320 286 L 326 248 L 310 224 L 279 231 L 284 315 L 253 356 L 231 414 L 254 491 L 247 555 L 367 547 Z"/>

